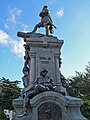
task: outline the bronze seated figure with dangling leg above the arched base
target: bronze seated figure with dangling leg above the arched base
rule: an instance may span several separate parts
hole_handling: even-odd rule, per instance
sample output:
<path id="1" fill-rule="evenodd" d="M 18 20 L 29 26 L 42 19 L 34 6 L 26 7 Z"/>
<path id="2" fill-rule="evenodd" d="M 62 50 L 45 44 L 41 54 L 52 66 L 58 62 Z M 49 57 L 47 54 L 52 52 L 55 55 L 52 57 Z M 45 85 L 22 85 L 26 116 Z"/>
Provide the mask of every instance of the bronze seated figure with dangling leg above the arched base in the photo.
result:
<path id="1" fill-rule="evenodd" d="M 53 80 L 47 76 L 47 73 L 48 70 L 46 68 L 42 68 L 40 77 L 35 80 L 34 86 L 24 93 L 24 112 L 18 116 L 19 118 L 28 115 L 30 99 L 32 99 L 35 95 L 44 91 L 55 90 L 56 86 L 54 85 Z"/>

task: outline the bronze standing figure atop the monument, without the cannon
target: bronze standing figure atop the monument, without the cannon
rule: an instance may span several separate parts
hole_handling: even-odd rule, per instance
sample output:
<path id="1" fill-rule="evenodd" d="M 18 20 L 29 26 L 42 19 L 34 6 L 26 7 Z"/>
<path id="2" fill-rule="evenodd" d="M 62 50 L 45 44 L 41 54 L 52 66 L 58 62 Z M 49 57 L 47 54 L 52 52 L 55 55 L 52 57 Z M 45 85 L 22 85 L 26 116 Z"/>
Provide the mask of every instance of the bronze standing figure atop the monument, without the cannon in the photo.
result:
<path id="1" fill-rule="evenodd" d="M 49 35 L 49 32 L 52 34 L 54 32 L 53 27 L 56 29 L 56 26 L 53 24 L 53 21 L 51 19 L 48 7 L 46 5 L 43 7 L 43 9 L 40 12 L 39 16 L 41 17 L 41 22 L 36 24 L 36 26 L 34 27 L 32 33 L 36 32 L 37 28 L 45 27 L 46 35 Z"/>

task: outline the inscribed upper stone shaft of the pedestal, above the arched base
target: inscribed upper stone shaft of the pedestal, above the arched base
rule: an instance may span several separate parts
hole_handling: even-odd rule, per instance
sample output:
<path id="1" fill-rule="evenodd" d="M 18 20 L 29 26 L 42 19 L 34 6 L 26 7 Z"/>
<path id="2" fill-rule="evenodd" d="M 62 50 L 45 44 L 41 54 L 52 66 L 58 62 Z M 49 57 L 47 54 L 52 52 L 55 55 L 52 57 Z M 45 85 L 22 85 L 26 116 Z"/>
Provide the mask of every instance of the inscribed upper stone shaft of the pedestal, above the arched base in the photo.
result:
<path id="1" fill-rule="evenodd" d="M 40 76 L 43 67 L 48 69 L 48 75 L 52 77 L 57 85 L 57 91 L 65 91 L 61 84 L 60 65 L 61 65 L 61 47 L 63 40 L 57 37 L 45 36 L 42 34 L 33 34 L 24 39 L 26 45 L 30 47 L 29 56 L 29 85 L 33 86 L 34 80 Z"/>

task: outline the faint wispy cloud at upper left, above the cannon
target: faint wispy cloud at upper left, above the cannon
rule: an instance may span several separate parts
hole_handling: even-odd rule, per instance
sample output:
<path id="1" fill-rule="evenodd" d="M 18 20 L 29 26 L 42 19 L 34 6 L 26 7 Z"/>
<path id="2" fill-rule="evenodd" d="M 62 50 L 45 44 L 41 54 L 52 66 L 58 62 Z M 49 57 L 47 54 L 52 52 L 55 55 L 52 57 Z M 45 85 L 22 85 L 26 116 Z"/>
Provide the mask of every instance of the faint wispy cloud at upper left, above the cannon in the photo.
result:
<path id="1" fill-rule="evenodd" d="M 14 30 L 15 27 L 20 27 L 23 31 L 29 31 L 29 25 L 19 21 L 19 17 L 22 15 L 22 10 L 11 5 L 8 7 L 8 18 L 4 21 L 4 27 L 6 29 Z"/>

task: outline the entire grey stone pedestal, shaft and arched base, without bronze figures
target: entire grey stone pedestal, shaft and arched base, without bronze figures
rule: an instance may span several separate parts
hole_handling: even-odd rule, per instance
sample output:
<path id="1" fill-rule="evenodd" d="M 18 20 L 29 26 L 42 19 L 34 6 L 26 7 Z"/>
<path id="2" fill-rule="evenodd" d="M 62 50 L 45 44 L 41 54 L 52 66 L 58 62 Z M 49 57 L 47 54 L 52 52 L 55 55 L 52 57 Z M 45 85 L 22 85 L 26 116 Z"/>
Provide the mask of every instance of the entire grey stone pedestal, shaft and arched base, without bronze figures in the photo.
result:
<path id="1" fill-rule="evenodd" d="M 25 65 L 28 64 L 28 82 L 24 83 L 24 91 L 33 86 L 35 79 L 40 76 L 43 67 L 48 69 L 48 76 L 52 77 L 56 84 L 55 91 L 39 93 L 30 99 L 29 114 L 22 118 L 17 115 L 23 111 L 23 98 L 13 101 L 16 114 L 13 120 L 86 120 L 80 112 L 81 99 L 67 96 L 65 88 L 61 83 L 61 47 L 63 40 L 57 37 L 45 36 L 42 34 L 22 34 L 26 46 L 28 46 L 28 56 L 25 56 Z M 66 95 L 62 95 L 65 93 Z"/>

